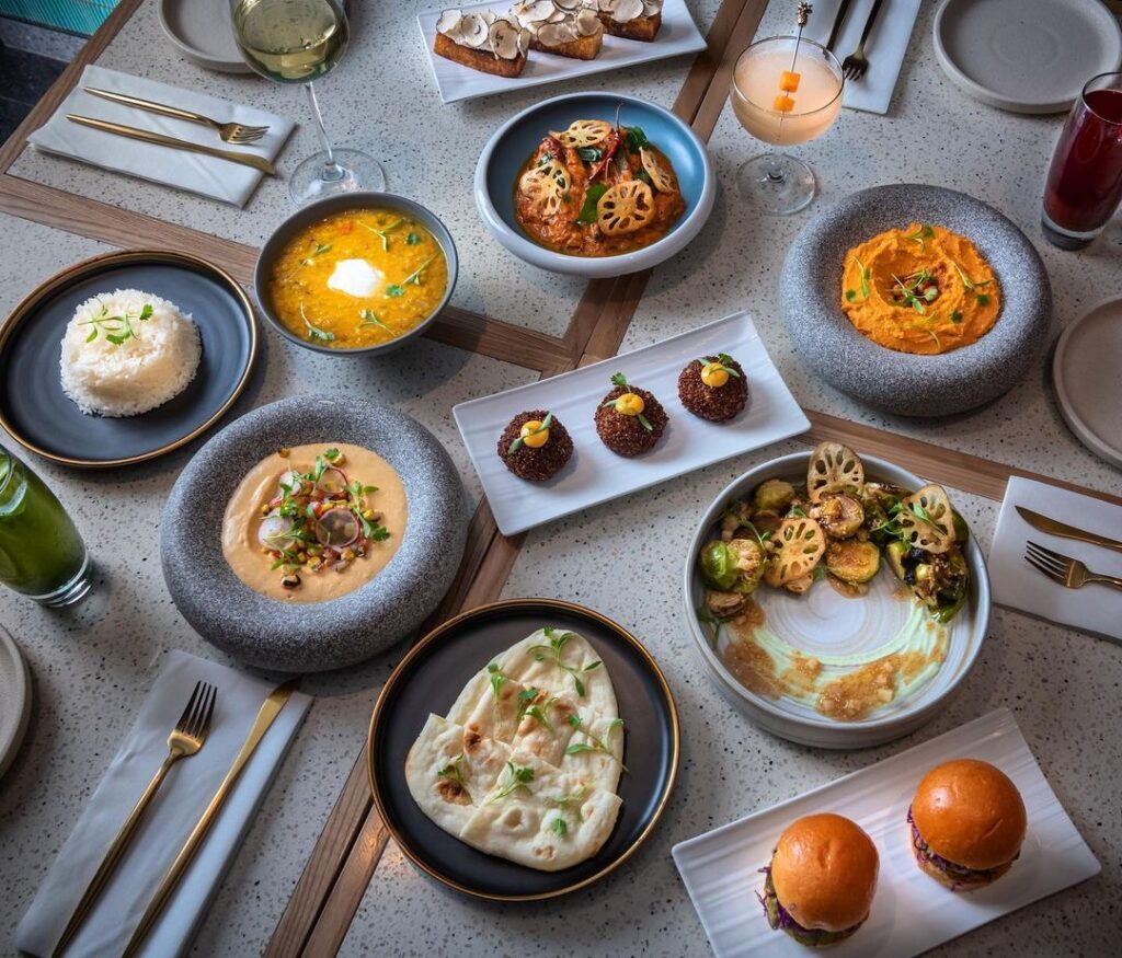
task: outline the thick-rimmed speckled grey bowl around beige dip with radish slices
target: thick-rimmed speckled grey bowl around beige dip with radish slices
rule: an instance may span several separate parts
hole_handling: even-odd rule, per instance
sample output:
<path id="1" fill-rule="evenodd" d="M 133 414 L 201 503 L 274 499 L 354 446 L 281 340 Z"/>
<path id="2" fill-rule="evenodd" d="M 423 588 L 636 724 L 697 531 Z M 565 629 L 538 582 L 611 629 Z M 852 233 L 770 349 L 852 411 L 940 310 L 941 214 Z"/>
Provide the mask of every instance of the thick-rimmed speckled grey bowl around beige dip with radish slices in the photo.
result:
<path id="1" fill-rule="evenodd" d="M 254 464 L 313 442 L 353 443 L 389 462 L 405 485 L 408 521 L 394 558 L 365 586 L 286 605 L 234 575 L 222 555 L 222 516 Z M 319 672 L 369 658 L 421 625 L 452 583 L 467 519 L 459 473 L 424 426 L 362 399 L 295 396 L 242 416 L 187 463 L 164 507 L 160 562 L 176 607 L 208 642 L 247 665 Z"/>

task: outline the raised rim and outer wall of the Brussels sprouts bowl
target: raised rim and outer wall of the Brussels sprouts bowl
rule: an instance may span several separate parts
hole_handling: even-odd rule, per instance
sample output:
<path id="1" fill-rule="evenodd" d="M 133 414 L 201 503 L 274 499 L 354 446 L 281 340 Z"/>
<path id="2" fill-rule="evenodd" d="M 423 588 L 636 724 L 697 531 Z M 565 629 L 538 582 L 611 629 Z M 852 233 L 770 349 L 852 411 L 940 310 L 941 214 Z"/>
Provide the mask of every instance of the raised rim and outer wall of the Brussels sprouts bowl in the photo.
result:
<path id="1" fill-rule="evenodd" d="M 948 625 L 949 642 L 946 660 L 938 673 L 925 685 L 902 697 L 898 702 L 874 712 L 867 719 L 836 721 L 790 700 L 773 701 L 749 692 L 714 652 L 709 636 L 698 620 L 697 609 L 701 605 L 703 584 L 697 569 L 697 556 L 701 546 L 714 537 L 714 529 L 725 506 L 730 499 L 748 495 L 765 479 L 791 479 L 806 475 L 809 459 L 809 452 L 797 452 L 757 466 L 730 482 L 714 500 L 712 505 L 706 509 L 693 533 L 686 561 L 683 577 L 686 618 L 701 661 L 717 688 L 734 706 L 767 731 L 801 745 L 813 745 L 820 748 L 865 748 L 882 745 L 914 731 L 923 722 L 934 718 L 944 707 L 947 698 L 966 678 L 982 647 L 982 642 L 990 626 L 990 578 L 986 573 L 982 550 L 978 549 L 973 535 L 964 549 L 966 563 L 971 570 L 969 597 L 959 614 Z M 901 469 L 899 466 L 893 466 L 891 462 L 872 455 L 863 455 L 862 461 L 865 464 L 865 473 L 871 479 L 893 482 L 912 490 L 925 485 L 918 476 Z M 890 574 L 886 570 L 882 570 L 880 573 L 880 575 Z M 815 589 L 825 590 L 829 587 L 819 583 Z M 807 602 L 813 595 L 815 590 L 812 589 L 799 601 Z M 840 599 L 840 597 L 838 600 L 844 602 L 865 601 L 864 599 Z"/>

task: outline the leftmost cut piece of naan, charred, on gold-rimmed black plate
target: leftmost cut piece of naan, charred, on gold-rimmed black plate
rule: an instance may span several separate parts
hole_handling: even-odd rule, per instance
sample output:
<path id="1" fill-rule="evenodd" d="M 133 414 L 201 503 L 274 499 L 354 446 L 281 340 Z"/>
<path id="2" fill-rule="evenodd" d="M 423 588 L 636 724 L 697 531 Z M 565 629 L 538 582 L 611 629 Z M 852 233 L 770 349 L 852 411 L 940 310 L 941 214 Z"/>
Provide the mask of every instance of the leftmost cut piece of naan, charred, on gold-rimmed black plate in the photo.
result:
<path id="1" fill-rule="evenodd" d="M 430 715 L 405 759 L 405 781 L 421 810 L 444 831 L 459 835 L 509 757 L 502 741 Z"/>

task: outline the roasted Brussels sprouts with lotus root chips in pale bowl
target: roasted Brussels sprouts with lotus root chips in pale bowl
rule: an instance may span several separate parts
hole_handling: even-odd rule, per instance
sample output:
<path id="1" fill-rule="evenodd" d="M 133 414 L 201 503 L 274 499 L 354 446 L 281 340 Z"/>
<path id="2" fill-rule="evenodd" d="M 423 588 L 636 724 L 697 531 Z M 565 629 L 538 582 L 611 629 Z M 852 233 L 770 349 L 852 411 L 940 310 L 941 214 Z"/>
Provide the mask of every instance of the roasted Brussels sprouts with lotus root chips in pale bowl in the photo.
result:
<path id="1" fill-rule="evenodd" d="M 883 556 L 931 618 L 948 623 L 969 591 L 968 535 L 941 486 L 909 492 L 867 481 L 853 450 L 822 443 L 804 485 L 769 479 L 729 503 L 720 537 L 698 555 L 707 587 L 702 614 L 739 615 L 761 582 L 801 593 L 828 579 L 844 595 L 863 596 Z"/>

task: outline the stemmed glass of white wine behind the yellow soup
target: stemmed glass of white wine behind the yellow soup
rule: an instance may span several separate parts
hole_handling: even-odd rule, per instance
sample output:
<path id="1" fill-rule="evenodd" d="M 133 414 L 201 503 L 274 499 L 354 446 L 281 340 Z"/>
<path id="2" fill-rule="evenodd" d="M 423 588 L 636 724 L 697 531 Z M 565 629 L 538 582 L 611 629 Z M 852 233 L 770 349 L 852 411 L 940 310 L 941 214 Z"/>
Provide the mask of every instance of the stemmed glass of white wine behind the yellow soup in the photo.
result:
<path id="1" fill-rule="evenodd" d="M 302 206 L 322 196 L 383 190 L 386 174 L 373 156 L 331 145 L 313 81 L 342 58 L 350 38 L 342 0 L 230 0 L 233 36 L 257 73 L 277 83 L 301 83 L 322 150 L 293 171 L 288 192 Z"/>

